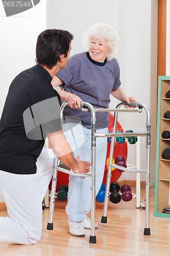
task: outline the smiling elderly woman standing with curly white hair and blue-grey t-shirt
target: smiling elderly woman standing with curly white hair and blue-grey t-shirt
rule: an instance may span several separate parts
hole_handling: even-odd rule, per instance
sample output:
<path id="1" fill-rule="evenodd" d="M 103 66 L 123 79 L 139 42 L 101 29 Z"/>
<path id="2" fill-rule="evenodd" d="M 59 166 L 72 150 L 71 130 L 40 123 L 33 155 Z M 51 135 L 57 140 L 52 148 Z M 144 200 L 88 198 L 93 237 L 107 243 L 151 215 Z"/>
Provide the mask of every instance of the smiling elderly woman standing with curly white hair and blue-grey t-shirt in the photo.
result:
<path id="1" fill-rule="evenodd" d="M 77 136 L 73 138 L 66 135 L 66 138 L 70 146 L 72 145 L 75 156 L 79 155 L 84 161 L 91 160 L 91 114 L 80 110 L 80 101 L 89 102 L 94 108 L 103 109 L 109 107 L 110 94 L 128 104 L 130 101 L 136 101 L 134 97 L 127 97 L 120 88 L 119 65 L 114 58 L 118 39 L 116 31 L 110 25 L 94 24 L 84 35 L 83 45 L 87 51 L 70 57 L 65 69 L 59 71 L 52 80 L 53 87 L 61 99 L 68 102 L 64 116 L 77 116 L 81 120 L 81 124 L 75 126 Z M 96 132 L 107 133 L 108 126 L 109 113 L 96 112 Z M 77 148 L 75 140 L 77 145 L 82 142 Z M 97 138 L 96 195 L 103 181 L 106 153 L 107 138 Z M 89 178 L 69 177 L 66 213 L 72 236 L 85 236 L 84 228 L 91 228 L 91 221 L 86 216 L 91 206 L 90 186 Z"/>

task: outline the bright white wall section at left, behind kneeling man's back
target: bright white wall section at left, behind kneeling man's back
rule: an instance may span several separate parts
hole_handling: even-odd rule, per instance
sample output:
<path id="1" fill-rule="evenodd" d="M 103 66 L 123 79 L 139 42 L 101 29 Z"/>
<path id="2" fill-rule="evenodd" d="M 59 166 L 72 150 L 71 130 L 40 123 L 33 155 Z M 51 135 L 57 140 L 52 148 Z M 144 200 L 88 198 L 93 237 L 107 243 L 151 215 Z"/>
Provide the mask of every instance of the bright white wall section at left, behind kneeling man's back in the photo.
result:
<path id="1" fill-rule="evenodd" d="M 46 1 L 32 9 L 6 17 L 0 2 L 0 116 L 10 83 L 22 70 L 35 65 L 37 36 L 46 29 Z"/>

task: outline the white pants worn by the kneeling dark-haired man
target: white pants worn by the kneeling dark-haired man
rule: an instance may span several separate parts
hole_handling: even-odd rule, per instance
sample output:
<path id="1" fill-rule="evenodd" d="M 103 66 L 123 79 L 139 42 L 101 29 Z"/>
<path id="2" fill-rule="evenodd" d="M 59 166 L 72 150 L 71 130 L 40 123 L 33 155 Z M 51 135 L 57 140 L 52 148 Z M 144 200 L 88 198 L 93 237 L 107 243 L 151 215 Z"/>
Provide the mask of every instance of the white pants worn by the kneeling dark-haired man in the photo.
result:
<path id="1" fill-rule="evenodd" d="M 35 244 L 41 237 L 42 200 L 51 181 L 55 155 L 43 148 L 37 173 L 17 175 L 0 170 L 0 194 L 9 217 L 0 217 L 0 242 Z"/>

